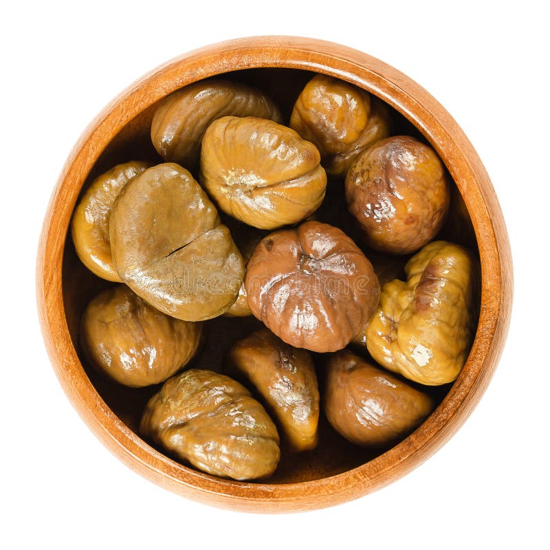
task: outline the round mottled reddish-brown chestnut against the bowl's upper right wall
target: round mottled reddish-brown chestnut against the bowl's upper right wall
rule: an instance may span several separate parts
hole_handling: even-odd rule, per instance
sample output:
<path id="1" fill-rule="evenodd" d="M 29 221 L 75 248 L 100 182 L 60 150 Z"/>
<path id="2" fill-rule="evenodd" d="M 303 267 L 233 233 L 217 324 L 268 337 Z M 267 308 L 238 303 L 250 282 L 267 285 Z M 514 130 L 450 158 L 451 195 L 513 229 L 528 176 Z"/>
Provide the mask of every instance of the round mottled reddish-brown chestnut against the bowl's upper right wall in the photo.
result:
<path id="1" fill-rule="evenodd" d="M 441 229 L 449 184 L 430 146 L 398 135 L 380 140 L 355 160 L 346 176 L 346 199 L 367 245 L 410 254 Z"/>

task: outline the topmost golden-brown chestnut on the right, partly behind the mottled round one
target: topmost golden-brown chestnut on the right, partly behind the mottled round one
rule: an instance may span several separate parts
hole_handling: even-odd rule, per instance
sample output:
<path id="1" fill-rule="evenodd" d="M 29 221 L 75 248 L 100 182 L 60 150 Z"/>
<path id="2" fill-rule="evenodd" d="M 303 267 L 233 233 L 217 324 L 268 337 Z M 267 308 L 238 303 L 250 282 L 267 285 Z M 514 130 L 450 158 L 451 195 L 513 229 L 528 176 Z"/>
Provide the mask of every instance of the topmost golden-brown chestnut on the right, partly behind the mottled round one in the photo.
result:
<path id="1" fill-rule="evenodd" d="M 315 144 L 329 174 L 345 175 L 369 145 L 390 135 L 388 109 L 369 92 L 325 74 L 294 104 L 290 127 Z"/>

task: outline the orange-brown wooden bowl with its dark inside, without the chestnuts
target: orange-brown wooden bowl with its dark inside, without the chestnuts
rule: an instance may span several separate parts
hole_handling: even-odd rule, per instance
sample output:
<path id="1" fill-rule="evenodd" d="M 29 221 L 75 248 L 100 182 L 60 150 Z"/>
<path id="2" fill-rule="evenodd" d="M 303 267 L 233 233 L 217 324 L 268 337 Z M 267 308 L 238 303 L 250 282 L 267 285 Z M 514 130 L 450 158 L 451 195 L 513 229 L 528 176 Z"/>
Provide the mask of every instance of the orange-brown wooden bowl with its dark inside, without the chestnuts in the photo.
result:
<path id="1" fill-rule="evenodd" d="M 482 270 L 479 325 L 459 378 L 441 389 L 441 403 L 422 426 L 391 450 L 375 454 L 355 448 L 324 421 L 317 451 L 295 455 L 292 464 L 283 461 L 265 483 L 229 481 L 181 465 L 140 439 L 137 422 L 157 387 L 117 386 L 96 375 L 83 360 L 78 345 L 80 316 L 89 299 L 109 283 L 87 272 L 76 258 L 72 239 L 67 239 L 69 222 L 80 192 L 95 175 L 123 160 L 159 159 L 148 139 L 149 125 L 155 103 L 170 92 L 232 72 L 230 78 L 267 89 L 288 114 L 311 77 L 308 71 L 342 78 L 379 96 L 437 150 L 475 230 Z M 356 50 L 324 41 L 267 36 L 208 46 L 170 61 L 137 80 L 90 124 L 69 155 L 47 210 L 37 287 L 43 335 L 56 374 L 76 410 L 111 452 L 151 481 L 190 498 L 249 511 L 298 511 L 342 503 L 395 481 L 459 429 L 485 391 L 503 349 L 512 269 L 505 223 L 489 177 L 463 131 L 430 94 Z M 254 320 L 249 322 L 252 327 Z M 216 341 L 220 335 L 238 336 L 233 320 L 221 318 L 212 327 Z M 219 361 L 219 348 L 207 342 L 202 362 L 211 366 Z"/>

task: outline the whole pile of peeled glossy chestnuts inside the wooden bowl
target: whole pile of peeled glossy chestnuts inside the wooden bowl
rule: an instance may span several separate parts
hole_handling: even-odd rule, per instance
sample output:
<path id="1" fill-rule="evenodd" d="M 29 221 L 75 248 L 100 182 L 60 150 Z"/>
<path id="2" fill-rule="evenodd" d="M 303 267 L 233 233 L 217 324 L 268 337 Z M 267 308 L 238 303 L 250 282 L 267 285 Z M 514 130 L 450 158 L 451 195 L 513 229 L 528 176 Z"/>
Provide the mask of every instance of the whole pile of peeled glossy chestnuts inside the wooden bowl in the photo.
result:
<path id="1" fill-rule="evenodd" d="M 116 284 L 87 306 L 80 341 L 111 380 L 164 383 L 145 439 L 253 480 L 274 473 L 281 449 L 316 448 L 320 410 L 380 450 L 430 415 L 428 386 L 453 382 L 470 352 L 478 261 L 441 240 L 446 219 L 460 230 L 460 195 L 428 144 L 393 135 L 393 116 L 317 75 L 285 126 L 262 91 L 202 80 L 156 107 L 164 162 L 118 164 L 85 190 L 75 249 Z M 218 316 L 265 326 L 199 369 Z"/>

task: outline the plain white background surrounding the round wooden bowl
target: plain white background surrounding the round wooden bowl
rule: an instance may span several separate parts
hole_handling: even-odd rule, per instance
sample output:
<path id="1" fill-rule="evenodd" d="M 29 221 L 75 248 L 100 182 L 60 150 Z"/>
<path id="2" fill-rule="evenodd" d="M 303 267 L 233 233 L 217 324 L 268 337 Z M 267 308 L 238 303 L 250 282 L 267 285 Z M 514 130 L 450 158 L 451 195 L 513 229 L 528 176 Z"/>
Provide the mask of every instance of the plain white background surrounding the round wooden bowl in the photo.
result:
<path id="1" fill-rule="evenodd" d="M 550 48 L 547 17 L 538 8 L 544 3 L 307 4 L 4 4 L 3 548 L 548 547 Z M 185 500 L 111 456 L 61 391 L 35 307 L 42 219 L 81 131 L 153 67 L 201 45 L 253 34 L 343 43 L 428 89 L 461 124 L 492 177 L 515 264 L 507 346 L 465 426 L 390 487 L 336 508 L 285 516 Z"/>

